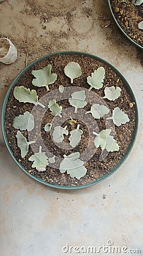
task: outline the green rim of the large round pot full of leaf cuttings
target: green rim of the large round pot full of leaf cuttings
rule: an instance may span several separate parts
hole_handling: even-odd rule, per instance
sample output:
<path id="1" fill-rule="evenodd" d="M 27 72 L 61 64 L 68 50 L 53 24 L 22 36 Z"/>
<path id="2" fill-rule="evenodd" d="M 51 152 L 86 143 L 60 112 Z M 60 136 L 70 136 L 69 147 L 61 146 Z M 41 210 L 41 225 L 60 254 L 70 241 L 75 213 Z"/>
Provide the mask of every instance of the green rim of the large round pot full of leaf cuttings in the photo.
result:
<path id="1" fill-rule="evenodd" d="M 87 183 L 87 184 L 82 184 L 82 185 L 59 185 L 59 184 L 50 184 L 50 183 L 47 183 L 46 181 L 42 180 L 41 178 L 39 177 L 36 177 L 36 176 L 33 176 L 32 174 L 30 174 L 27 170 L 25 170 L 25 168 L 18 162 L 18 160 L 15 158 L 13 152 L 11 151 L 11 148 L 10 148 L 10 145 L 8 143 L 8 139 L 7 139 L 7 135 L 6 135 L 6 131 L 5 131 L 5 114 L 6 114 L 6 107 L 7 107 L 7 102 L 8 102 L 8 97 L 10 95 L 10 92 L 11 92 L 11 89 L 15 86 L 15 84 L 19 81 L 20 77 L 23 76 L 23 74 L 25 72 L 28 71 L 28 69 L 30 69 L 31 67 L 33 67 L 33 65 L 35 64 L 38 64 L 40 63 L 40 61 L 43 61 L 43 60 L 48 60 L 49 58 L 52 58 L 54 56 L 63 56 L 63 55 L 78 55 L 78 56 L 85 56 L 85 57 L 89 57 L 91 58 L 93 61 L 94 60 L 97 60 L 97 61 L 101 61 L 103 64 L 107 65 L 108 67 L 110 67 L 112 69 L 113 72 L 116 73 L 116 75 L 118 75 L 124 85 L 125 85 L 125 88 L 127 89 L 131 99 L 132 99 L 132 102 L 135 102 L 135 106 L 133 107 L 135 109 L 135 127 L 134 127 L 134 130 L 133 130 L 133 133 L 132 133 L 132 139 L 131 139 L 131 142 L 129 143 L 129 146 L 127 148 L 127 150 L 125 151 L 125 154 L 122 156 L 122 159 L 120 159 L 120 161 L 118 162 L 118 164 L 116 164 L 116 166 L 114 168 L 112 168 L 112 170 L 108 173 L 106 173 L 105 175 L 103 175 L 102 177 L 99 177 L 98 179 L 95 179 L 94 181 L 90 182 L 90 183 Z M 19 75 L 15 78 L 15 80 L 12 82 L 12 84 L 10 85 L 10 88 L 8 89 L 7 91 L 7 94 L 6 94 L 6 97 L 5 97 L 5 101 L 3 102 L 3 108 L 2 108 L 2 133 L 3 133 L 3 138 L 5 139 L 5 143 L 6 143 L 6 146 L 8 148 L 8 151 L 10 152 L 10 155 L 12 156 L 12 158 L 15 160 L 16 164 L 18 164 L 18 166 L 21 168 L 21 170 L 23 170 L 26 174 L 28 174 L 30 177 L 32 177 L 34 180 L 37 180 L 39 181 L 40 183 L 42 184 L 45 184 L 45 185 L 48 185 L 50 187 L 54 187 L 54 188 L 60 188 L 60 189 L 79 189 L 79 188 L 85 188 L 85 187 L 89 187 L 90 185 L 94 185 L 94 184 L 97 184 L 99 182 L 101 182 L 102 180 L 105 180 L 107 177 L 109 177 L 110 175 L 114 174 L 114 172 L 116 170 L 118 170 L 118 168 L 120 166 L 122 166 L 122 164 L 124 163 L 125 159 L 127 159 L 129 153 L 131 152 L 132 150 L 132 147 L 133 147 L 133 144 L 135 143 L 135 140 L 136 140 L 136 135 L 137 135 L 137 130 L 138 130 L 138 109 L 137 109 L 137 102 L 136 102 L 136 98 L 132 92 L 132 89 L 131 87 L 129 86 L 128 82 L 124 79 L 124 77 L 122 76 L 122 74 L 115 68 L 113 67 L 111 64 L 107 63 L 107 61 L 97 57 L 97 56 L 94 56 L 94 55 L 90 55 L 88 53 L 84 53 L 84 52 L 56 52 L 56 53 L 51 53 L 49 55 L 46 55 L 46 56 L 43 56 L 43 57 L 40 57 L 40 59 L 37 59 L 35 61 L 33 61 L 31 64 L 29 64 L 26 68 L 24 68 L 20 73 Z"/>

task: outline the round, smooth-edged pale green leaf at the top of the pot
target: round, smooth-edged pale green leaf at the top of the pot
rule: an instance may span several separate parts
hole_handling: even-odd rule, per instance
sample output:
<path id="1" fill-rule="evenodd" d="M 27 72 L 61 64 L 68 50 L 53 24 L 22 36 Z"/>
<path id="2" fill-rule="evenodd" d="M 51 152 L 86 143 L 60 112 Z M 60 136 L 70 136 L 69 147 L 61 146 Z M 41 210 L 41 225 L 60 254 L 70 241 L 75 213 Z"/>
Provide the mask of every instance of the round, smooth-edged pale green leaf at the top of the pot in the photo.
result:
<path id="1" fill-rule="evenodd" d="M 71 79 L 71 84 L 73 83 L 73 79 L 81 76 L 81 68 L 80 65 L 74 61 L 71 61 L 64 68 L 64 73 L 67 77 Z"/>

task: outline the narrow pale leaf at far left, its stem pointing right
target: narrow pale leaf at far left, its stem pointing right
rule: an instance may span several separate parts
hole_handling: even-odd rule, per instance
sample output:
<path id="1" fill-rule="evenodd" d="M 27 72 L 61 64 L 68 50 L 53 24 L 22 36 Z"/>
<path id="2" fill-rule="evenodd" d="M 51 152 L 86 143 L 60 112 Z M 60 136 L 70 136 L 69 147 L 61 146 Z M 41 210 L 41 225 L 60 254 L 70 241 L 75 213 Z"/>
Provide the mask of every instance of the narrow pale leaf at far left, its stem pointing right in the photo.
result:
<path id="1" fill-rule="evenodd" d="M 16 133 L 16 138 L 18 139 L 18 147 L 21 150 L 21 157 L 24 158 L 24 156 L 27 155 L 29 144 L 35 143 L 35 141 L 27 142 L 27 139 L 20 131 Z"/>

